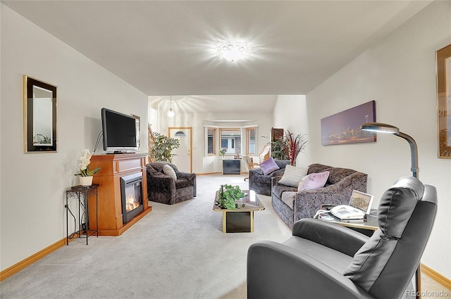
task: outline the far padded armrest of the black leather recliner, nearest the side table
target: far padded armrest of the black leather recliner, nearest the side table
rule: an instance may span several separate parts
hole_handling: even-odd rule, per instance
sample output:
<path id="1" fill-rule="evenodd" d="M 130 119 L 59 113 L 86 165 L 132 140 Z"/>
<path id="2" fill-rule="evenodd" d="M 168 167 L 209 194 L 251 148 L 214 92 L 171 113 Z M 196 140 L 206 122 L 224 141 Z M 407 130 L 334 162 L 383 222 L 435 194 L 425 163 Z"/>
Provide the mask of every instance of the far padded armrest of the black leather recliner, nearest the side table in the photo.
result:
<path id="1" fill-rule="evenodd" d="M 368 236 L 339 224 L 311 218 L 295 222 L 292 235 L 306 238 L 350 256 L 354 256 L 369 239 Z"/>

